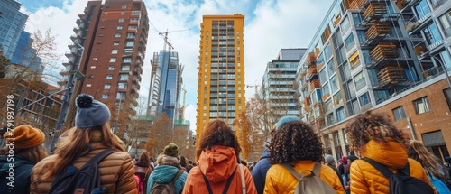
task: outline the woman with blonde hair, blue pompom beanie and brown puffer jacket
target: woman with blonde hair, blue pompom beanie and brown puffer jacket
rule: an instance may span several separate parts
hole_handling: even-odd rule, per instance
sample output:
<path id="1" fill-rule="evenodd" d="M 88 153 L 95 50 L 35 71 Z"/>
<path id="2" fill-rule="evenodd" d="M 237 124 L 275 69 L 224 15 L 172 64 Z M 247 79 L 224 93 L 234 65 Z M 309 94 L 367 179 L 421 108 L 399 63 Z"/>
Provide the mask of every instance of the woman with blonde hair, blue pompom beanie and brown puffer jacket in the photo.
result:
<path id="1" fill-rule="evenodd" d="M 69 166 L 79 170 L 97 153 L 106 150 L 112 152 L 97 165 L 100 189 L 106 189 L 105 193 L 111 194 L 137 193 L 132 158 L 124 152 L 121 140 L 111 133 L 109 108 L 86 94 L 79 95 L 76 103 L 76 128 L 70 130 L 69 135 L 58 144 L 54 155 L 35 165 L 30 193 L 49 193 L 53 181 L 58 181 L 55 178 L 65 173 Z M 67 193 L 75 193 L 76 190 Z"/>

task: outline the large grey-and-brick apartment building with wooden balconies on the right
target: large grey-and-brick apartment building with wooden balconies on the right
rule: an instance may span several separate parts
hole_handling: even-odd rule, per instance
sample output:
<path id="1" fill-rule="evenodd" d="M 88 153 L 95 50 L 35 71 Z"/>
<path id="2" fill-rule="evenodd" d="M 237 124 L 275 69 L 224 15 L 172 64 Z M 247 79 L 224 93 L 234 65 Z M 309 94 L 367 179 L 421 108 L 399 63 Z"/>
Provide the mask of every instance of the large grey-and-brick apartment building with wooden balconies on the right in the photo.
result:
<path id="1" fill-rule="evenodd" d="M 438 157 L 448 154 L 451 135 L 442 127 L 451 122 L 443 74 L 451 67 L 450 10 L 449 1 L 333 2 L 296 75 L 301 117 L 315 126 L 327 153 L 352 154 L 346 125 L 372 110 Z"/>

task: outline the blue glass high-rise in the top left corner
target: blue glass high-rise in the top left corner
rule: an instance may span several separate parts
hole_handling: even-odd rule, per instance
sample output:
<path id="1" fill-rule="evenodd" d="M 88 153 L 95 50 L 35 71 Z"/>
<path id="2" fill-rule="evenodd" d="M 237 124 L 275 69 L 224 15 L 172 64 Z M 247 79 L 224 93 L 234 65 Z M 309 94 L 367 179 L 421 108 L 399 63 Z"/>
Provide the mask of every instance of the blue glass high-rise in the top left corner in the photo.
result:
<path id="1" fill-rule="evenodd" d="M 0 44 L 7 59 L 13 57 L 14 49 L 28 19 L 19 10 L 21 3 L 15 0 L 0 0 Z"/>

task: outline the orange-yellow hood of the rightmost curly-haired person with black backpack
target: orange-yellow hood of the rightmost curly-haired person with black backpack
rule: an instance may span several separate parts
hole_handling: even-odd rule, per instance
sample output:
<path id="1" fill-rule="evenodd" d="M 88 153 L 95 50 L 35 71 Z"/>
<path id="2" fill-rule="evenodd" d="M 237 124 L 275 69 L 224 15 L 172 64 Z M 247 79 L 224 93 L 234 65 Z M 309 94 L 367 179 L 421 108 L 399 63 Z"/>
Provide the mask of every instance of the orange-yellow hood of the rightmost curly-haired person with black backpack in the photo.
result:
<path id="1" fill-rule="evenodd" d="M 391 169 L 401 169 L 407 164 L 407 150 L 393 138 L 386 138 L 387 143 L 370 140 L 364 145 L 362 156 L 373 159 Z M 396 160 L 394 160 L 396 159 Z"/>

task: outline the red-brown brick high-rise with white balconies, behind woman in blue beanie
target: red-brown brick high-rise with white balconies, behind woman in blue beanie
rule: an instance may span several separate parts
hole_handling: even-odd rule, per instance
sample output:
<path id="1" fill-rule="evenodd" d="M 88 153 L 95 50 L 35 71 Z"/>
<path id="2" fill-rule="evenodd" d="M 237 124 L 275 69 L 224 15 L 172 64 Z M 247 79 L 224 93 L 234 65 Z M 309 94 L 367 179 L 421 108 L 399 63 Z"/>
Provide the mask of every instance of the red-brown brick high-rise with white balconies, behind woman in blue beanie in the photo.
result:
<path id="1" fill-rule="evenodd" d="M 66 53 L 69 60 L 63 62 L 67 69 L 62 74 L 70 79 L 74 72 L 80 72 L 84 79 L 78 79 L 74 88 L 66 125 L 73 123 L 74 99 L 80 93 L 114 107 L 112 121 L 130 120 L 136 114 L 143 74 L 149 30 L 146 7 L 140 0 L 89 1 L 84 14 L 78 16 L 76 34 L 70 37 L 71 51 Z M 120 132 L 129 124 L 119 125 Z"/>

